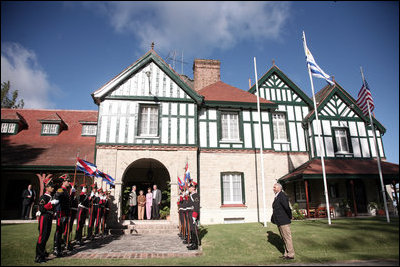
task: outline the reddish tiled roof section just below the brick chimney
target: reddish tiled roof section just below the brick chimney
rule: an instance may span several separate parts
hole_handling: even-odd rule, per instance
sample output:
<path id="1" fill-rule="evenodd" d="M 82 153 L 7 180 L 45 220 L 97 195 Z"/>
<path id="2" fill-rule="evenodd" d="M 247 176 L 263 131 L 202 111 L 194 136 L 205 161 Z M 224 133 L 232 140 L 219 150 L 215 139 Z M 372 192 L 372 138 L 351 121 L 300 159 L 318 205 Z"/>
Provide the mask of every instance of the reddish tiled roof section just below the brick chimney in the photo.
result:
<path id="1" fill-rule="evenodd" d="M 211 103 L 228 104 L 228 102 L 236 102 L 239 105 L 243 103 L 257 104 L 257 96 L 221 81 L 204 87 L 199 90 L 199 94 L 204 96 L 206 105 Z M 274 102 L 260 97 L 261 105 L 271 108 L 277 106 Z"/>

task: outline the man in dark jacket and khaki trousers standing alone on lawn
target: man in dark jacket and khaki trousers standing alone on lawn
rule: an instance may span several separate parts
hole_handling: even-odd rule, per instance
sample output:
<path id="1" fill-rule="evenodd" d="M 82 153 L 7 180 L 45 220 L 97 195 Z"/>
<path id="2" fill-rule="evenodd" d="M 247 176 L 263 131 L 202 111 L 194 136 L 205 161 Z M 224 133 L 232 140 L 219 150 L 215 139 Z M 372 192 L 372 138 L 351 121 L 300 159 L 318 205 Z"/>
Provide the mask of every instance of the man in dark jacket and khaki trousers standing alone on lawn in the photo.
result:
<path id="1" fill-rule="evenodd" d="M 292 233 L 290 231 L 290 222 L 292 218 L 292 210 L 289 207 L 289 200 L 285 193 L 282 192 L 282 185 L 274 184 L 275 200 L 272 203 L 271 222 L 278 226 L 279 232 L 285 243 L 285 253 L 282 258 L 287 260 L 294 259 L 294 248 L 292 243 Z"/>

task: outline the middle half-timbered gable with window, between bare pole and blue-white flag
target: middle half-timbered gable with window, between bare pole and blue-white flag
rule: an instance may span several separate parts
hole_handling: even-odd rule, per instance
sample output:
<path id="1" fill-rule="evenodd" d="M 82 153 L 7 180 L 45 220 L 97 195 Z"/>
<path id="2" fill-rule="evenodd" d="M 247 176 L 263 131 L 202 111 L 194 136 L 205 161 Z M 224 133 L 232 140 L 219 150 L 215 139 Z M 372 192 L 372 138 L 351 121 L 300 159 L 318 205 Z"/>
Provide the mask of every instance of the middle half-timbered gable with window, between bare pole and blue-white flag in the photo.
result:
<path id="1" fill-rule="evenodd" d="M 306 152 L 302 120 L 312 107 L 310 98 L 275 65 L 261 77 L 258 86 L 260 97 L 278 105 L 278 109 L 269 115 L 272 148 L 275 151 Z M 257 94 L 255 85 L 249 92 Z"/>

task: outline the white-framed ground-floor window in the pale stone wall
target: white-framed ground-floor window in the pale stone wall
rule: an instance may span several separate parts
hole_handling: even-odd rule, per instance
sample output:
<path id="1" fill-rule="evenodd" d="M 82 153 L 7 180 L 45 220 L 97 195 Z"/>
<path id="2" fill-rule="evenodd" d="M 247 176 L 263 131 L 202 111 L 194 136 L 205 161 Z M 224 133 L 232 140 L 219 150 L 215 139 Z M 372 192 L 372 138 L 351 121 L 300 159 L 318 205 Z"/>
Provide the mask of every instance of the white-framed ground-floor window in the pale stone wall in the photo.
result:
<path id="1" fill-rule="evenodd" d="M 243 173 L 222 173 L 222 204 L 244 204 Z"/>

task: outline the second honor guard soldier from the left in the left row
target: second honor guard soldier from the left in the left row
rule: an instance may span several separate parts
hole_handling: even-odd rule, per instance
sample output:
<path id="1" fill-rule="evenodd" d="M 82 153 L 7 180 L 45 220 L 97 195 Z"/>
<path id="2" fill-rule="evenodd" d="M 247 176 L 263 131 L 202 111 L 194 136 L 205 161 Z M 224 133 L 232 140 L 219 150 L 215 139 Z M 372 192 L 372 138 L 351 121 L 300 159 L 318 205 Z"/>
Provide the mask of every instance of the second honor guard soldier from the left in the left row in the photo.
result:
<path id="1" fill-rule="evenodd" d="M 57 226 L 56 226 L 56 233 L 54 234 L 54 255 L 56 257 L 62 257 L 62 250 L 61 250 L 61 243 L 62 243 L 62 234 L 65 229 L 68 229 L 68 217 L 70 214 L 70 195 L 68 192 L 67 187 L 71 181 L 68 174 L 64 174 L 60 176 L 63 180 L 61 188 L 59 188 L 54 198 L 58 200 L 58 204 L 56 205 L 56 219 L 57 219 Z"/>

